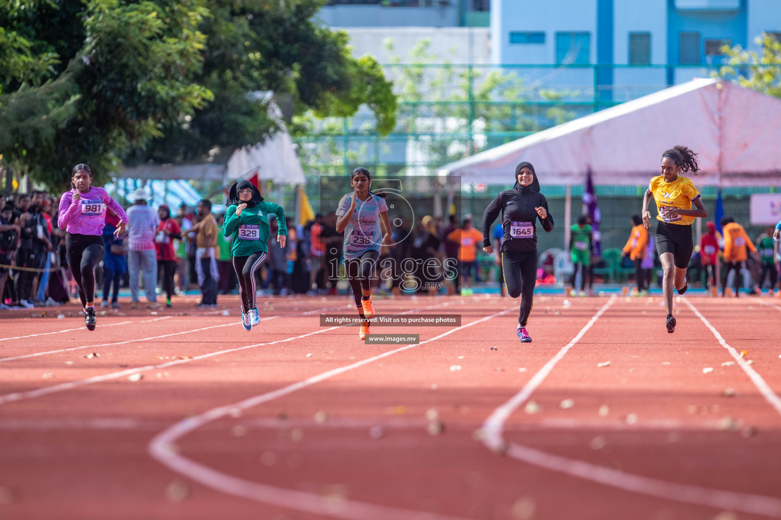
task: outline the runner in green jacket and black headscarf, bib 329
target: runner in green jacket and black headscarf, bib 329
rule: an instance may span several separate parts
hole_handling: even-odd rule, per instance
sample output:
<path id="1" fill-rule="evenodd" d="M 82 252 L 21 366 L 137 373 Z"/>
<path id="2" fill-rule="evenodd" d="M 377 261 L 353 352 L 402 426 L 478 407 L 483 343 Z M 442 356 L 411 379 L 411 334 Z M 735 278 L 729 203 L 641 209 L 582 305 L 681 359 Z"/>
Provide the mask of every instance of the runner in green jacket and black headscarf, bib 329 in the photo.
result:
<path id="1" fill-rule="evenodd" d="M 275 203 L 265 202 L 259 189 L 245 179 L 230 187 L 228 203 L 230 206 L 225 212 L 223 235 L 233 235 L 230 255 L 239 279 L 241 325 L 245 331 L 251 331 L 253 326 L 260 323 L 255 298 L 255 271 L 263 260 L 266 260 L 268 253 L 266 242 L 270 230 L 267 215 L 276 214 L 280 227 L 276 242 L 280 242 L 280 246 L 284 247 L 287 239 L 285 211 Z"/>

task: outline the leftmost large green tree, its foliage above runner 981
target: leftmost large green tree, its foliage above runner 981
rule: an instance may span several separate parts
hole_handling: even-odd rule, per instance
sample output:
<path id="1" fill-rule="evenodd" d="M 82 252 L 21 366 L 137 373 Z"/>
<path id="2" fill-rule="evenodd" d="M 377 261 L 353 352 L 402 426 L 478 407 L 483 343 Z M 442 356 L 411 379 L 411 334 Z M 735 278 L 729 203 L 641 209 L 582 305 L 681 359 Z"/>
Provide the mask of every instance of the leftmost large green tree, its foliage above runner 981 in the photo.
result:
<path id="1" fill-rule="evenodd" d="M 98 182 L 105 180 L 120 154 L 162 135 L 159 128 L 166 121 L 212 99 L 208 89 L 191 80 L 202 63 L 205 36 L 198 25 L 209 16 L 205 0 L 91 0 L 83 2 L 84 9 L 73 9 L 77 3 L 20 2 L 2 12 L 3 25 L 25 34 L 30 51 L 56 52 L 60 62 L 70 61 L 50 83 L 21 83 L 0 98 L 2 118 L 12 109 L 22 113 L 28 100 L 51 110 L 40 117 L 30 111 L 20 120 L 3 160 L 59 189 L 68 186 L 70 168 L 79 162 L 91 164 Z M 60 4 L 68 9 L 58 9 Z M 41 91 L 47 87 L 48 95 Z M 27 124 L 37 131 L 23 132 Z"/>

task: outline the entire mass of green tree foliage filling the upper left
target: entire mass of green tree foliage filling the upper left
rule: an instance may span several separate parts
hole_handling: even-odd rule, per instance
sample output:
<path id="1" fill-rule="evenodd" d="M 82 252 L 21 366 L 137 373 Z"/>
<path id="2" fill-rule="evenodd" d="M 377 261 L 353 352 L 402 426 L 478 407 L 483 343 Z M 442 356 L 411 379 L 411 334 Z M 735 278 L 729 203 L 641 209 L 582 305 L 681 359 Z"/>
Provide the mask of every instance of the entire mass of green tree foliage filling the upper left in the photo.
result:
<path id="1" fill-rule="evenodd" d="M 395 124 L 391 83 L 347 37 L 319 25 L 321 0 L 0 2 L 2 161 L 48 186 L 91 164 L 201 161 L 276 130 L 263 90 L 297 113 Z M 7 123 L 7 124 L 6 124 Z"/>

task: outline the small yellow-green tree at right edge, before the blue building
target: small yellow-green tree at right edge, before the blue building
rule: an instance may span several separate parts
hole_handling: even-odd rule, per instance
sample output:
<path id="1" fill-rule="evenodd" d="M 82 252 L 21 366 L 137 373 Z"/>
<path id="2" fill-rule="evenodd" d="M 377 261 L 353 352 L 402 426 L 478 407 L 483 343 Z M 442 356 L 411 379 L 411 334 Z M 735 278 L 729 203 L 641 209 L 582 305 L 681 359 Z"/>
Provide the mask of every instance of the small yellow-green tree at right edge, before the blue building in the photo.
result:
<path id="1" fill-rule="evenodd" d="M 765 94 L 781 97 L 781 42 L 771 34 L 763 33 L 754 40 L 761 45 L 759 53 L 746 51 L 740 45 L 724 46 L 727 65 L 719 70 L 719 76 L 736 80 Z"/>

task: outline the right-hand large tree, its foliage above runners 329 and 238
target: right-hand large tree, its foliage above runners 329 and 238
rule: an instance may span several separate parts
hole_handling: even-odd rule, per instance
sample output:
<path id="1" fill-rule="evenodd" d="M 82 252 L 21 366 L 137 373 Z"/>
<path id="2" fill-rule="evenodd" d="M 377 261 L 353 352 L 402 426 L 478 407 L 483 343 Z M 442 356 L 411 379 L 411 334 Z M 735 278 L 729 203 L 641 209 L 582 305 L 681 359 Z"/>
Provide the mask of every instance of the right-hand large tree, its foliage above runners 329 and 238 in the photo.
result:
<path id="1" fill-rule="evenodd" d="M 215 93 L 192 118 L 171 122 L 165 136 L 131 161 L 198 161 L 209 150 L 258 143 L 276 130 L 262 91 L 290 97 L 297 114 L 349 116 L 368 104 L 376 131 L 395 125 L 396 97 L 373 58 L 352 58 L 344 32 L 319 25 L 319 0 L 211 0 L 207 48 L 198 83 Z"/>

